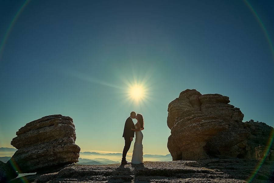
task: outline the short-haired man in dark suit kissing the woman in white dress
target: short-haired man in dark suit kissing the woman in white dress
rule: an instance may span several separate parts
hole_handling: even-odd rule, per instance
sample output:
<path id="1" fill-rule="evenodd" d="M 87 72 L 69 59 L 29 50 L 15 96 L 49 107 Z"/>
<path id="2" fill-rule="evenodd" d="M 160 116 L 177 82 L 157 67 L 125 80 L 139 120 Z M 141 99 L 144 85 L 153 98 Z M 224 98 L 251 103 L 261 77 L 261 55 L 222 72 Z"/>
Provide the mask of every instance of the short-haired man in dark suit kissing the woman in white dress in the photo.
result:
<path id="1" fill-rule="evenodd" d="M 121 164 L 130 164 L 129 162 L 126 161 L 125 157 L 127 156 L 128 149 L 130 148 L 131 142 L 133 141 L 135 131 L 132 131 L 131 128 L 135 128 L 134 123 L 132 121 L 132 119 L 134 119 L 135 117 L 136 117 L 136 113 L 132 111 L 130 113 L 130 117 L 128 117 L 128 119 L 125 122 L 124 133 L 123 133 L 123 137 L 125 138 L 125 147 L 123 150 L 123 157 L 122 157 Z"/>

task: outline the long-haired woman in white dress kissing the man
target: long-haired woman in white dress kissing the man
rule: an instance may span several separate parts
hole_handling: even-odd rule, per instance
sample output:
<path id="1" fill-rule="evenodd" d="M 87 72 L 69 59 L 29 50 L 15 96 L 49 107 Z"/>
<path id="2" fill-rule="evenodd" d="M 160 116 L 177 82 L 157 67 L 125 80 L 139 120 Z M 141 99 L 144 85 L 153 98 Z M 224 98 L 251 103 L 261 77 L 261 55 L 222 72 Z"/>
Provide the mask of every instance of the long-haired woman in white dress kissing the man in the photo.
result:
<path id="1" fill-rule="evenodd" d="M 135 131 L 135 135 L 136 135 L 131 163 L 132 164 L 140 164 L 140 163 L 144 163 L 144 161 L 143 161 L 143 145 L 142 145 L 143 134 L 141 131 L 144 129 L 144 119 L 141 114 L 137 114 L 135 119 L 137 120 L 137 123 L 134 125 L 135 128 L 131 129 L 131 130 Z"/>

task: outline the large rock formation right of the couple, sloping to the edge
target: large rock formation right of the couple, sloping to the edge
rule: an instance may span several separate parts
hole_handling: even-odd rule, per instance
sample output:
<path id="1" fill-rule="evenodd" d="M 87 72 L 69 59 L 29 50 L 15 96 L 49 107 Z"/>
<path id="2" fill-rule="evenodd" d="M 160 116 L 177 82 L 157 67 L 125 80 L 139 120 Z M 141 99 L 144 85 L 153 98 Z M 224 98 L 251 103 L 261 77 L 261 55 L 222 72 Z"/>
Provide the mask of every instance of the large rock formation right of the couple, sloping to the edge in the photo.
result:
<path id="1" fill-rule="evenodd" d="M 268 142 L 273 127 L 253 120 L 243 123 L 244 114 L 229 102 L 227 96 L 202 95 L 195 89 L 182 91 L 170 102 L 167 147 L 173 160 L 197 160 L 209 155 L 272 159 L 274 146 L 269 147 Z"/>

